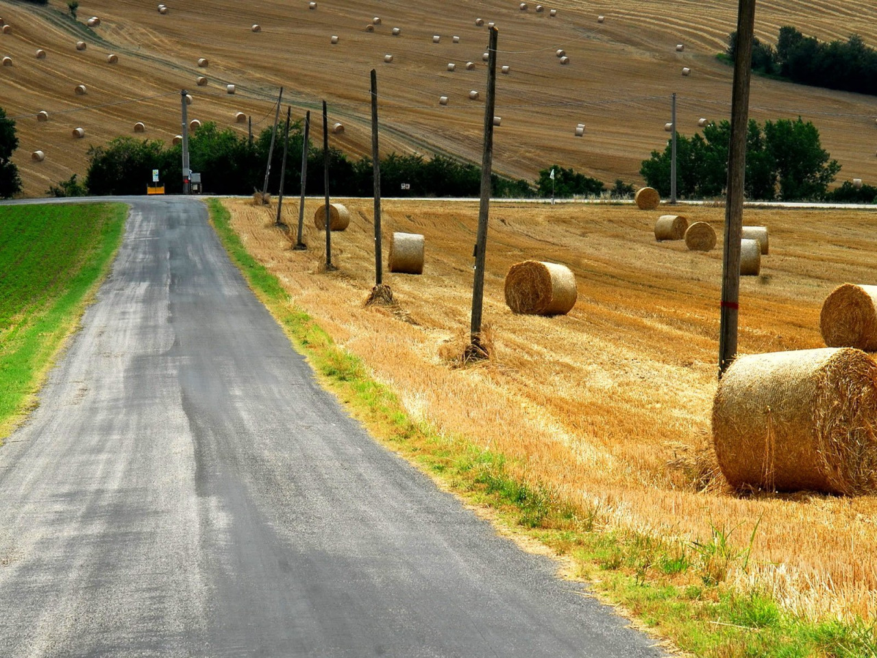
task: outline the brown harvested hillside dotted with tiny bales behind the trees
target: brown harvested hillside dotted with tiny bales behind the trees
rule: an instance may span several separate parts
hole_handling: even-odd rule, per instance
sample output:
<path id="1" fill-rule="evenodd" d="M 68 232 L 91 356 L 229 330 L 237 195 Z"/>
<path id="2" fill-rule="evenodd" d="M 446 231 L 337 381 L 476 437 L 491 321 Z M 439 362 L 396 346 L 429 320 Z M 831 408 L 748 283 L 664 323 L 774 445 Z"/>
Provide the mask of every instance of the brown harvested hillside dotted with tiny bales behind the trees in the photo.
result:
<path id="1" fill-rule="evenodd" d="M 475 18 L 499 27 L 500 75 L 496 131 L 497 172 L 533 179 L 553 163 L 573 167 L 605 182 L 617 177 L 640 182 L 640 162 L 666 143 L 663 126 L 670 118 L 670 95 L 679 95 L 680 132 L 697 130 L 697 119 L 729 115 L 731 68 L 716 60 L 724 39 L 736 26 L 736 4 L 724 0 L 634 3 L 585 3 L 560 0 L 536 13 L 519 11 L 517 2 L 449 0 L 203 0 L 168 5 L 161 15 L 147 0 L 84 0 L 78 22 L 63 0 L 48 8 L 0 0 L 0 17 L 10 32 L 0 34 L 0 55 L 11 67 L 0 68 L 7 114 L 16 118 L 21 140 L 15 161 L 25 193 L 42 195 L 50 184 L 83 175 L 89 146 L 118 135 L 169 142 L 181 132 L 180 89 L 194 97 L 189 118 L 216 121 L 246 133 L 235 113 L 252 116 L 254 130 L 271 124 L 272 104 L 284 87 L 285 103 L 297 117 L 317 110 L 325 98 L 330 121 L 346 125 L 332 144 L 349 154 L 370 152 L 368 72 L 378 71 L 383 152 L 452 154 L 480 161 L 483 94 L 470 101 L 470 90 L 486 84 L 481 61 L 487 35 Z M 554 18 L 549 9 L 556 9 Z M 604 16 L 597 23 L 597 16 Z M 102 19 L 91 29 L 84 22 Z M 374 32 L 366 25 L 375 17 Z M 820 39 L 845 39 L 852 32 L 877 45 L 877 8 L 862 0 L 760 2 L 757 34 L 773 43 L 779 26 L 792 24 Z M 252 32 L 253 24 L 260 32 Z M 392 35 L 399 27 L 399 36 Z M 332 35 L 339 43 L 332 45 Z M 439 43 L 433 37 L 439 36 Z M 452 37 L 459 36 L 459 43 Z M 82 39 L 88 47 L 75 49 Z M 684 52 L 676 52 L 683 44 Z M 46 58 L 35 57 L 37 48 Z M 570 58 L 561 66 L 555 50 Z M 107 54 L 118 63 L 107 63 Z M 384 55 L 393 54 L 392 63 Z M 198 68 L 199 57 L 208 68 Z M 466 62 L 474 62 L 467 70 Z M 447 70 L 455 63 L 456 70 Z M 681 68 L 692 73 L 681 75 Z M 196 77 L 208 78 L 205 86 Z M 236 93 L 225 93 L 235 84 Z M 75 96 L 77 84 L 88 93 Z M 439 96 L 449 97 L 447 106 Z M 38 111 L 49 120 L 38 122 Z M 843 165 L 840 180 L 877 182 L 877 107 L 873 97 L 801 87 L 756 77 L 752 117 L 812 120 L 823 145 Z M 587 126 L 583 138 L 575 125 Z M 82 127 L 84 139 L 71 131 Z M 314 139 L 321 139 L 321 130 Z M 31 154 L 42 150 L 46 160 Z M 144 182 L 144 185 L 146 182 Z"/>

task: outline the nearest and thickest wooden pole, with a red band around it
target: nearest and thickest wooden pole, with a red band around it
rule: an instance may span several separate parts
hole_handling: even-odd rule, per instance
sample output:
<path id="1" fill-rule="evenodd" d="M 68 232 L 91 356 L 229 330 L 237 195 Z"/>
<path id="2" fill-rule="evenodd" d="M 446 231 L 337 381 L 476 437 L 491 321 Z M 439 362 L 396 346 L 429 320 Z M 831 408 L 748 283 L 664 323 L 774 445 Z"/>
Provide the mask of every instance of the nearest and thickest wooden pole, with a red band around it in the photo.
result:
<path id="1" fill-rule="evenodd" d="M 718 341 L 718 375 L 737 354 L 740 299 L 740 237 L 743 225 L 743 190 L 746 171 L 746 132 L 749 123 L 749 81 L 752 77 L 752 32 L 755 0 L 739 0 L 737 52 L 731 96 L 731 148 L 728 152 L 728 194 L 724 211 L 722 260 L 722 311 Z"/>

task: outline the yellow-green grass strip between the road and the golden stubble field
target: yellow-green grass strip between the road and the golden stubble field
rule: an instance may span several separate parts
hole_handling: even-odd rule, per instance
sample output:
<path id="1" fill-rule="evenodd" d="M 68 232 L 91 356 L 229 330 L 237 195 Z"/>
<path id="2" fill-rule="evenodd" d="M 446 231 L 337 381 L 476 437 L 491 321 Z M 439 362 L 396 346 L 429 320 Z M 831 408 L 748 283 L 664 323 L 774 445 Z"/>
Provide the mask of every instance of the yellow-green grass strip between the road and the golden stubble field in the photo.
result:
<path id="1" fill-rule="evenodd" d="M 638 626 L 698 656 L 877 656 L 873 625 L 803 619 L 766 592 L 731 587 L 731 570 L 745 569 L 749 562 L 749 549 L 739 548 L 738 538 L 732 537 L 736 529 L 714 527 L 709 537 L 689 542 L 612 528 L 599 508 L 574 507 L 538 483 L 521 480 L 515 475 L 517 465 L 502 454 L 412 421 L 396 395 L 374 382 L 356 356 L 334 345 L 317 321 L 296 308 L 275 276 L 246 252 L 222 202 L 210 199 L 208 206 L 232 261 L 354 418 L 445 489 L 487 506 L 498 526 L 538 540 L 565 558 L 574 576 L 623 606 Z"/>

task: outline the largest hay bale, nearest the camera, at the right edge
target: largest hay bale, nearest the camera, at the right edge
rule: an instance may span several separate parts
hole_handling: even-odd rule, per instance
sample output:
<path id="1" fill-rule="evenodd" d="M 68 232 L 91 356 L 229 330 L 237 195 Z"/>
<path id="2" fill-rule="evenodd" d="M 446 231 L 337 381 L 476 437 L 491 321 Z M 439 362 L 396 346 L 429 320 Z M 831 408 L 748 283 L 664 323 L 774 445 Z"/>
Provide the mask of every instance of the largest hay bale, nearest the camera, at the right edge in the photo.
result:
<path id="1" fill-rule="evenodd" d="M 877 364 L 851 347 L 739 356 L 719 383 L 712 435 L 734 487 L 877 490 Z"/>

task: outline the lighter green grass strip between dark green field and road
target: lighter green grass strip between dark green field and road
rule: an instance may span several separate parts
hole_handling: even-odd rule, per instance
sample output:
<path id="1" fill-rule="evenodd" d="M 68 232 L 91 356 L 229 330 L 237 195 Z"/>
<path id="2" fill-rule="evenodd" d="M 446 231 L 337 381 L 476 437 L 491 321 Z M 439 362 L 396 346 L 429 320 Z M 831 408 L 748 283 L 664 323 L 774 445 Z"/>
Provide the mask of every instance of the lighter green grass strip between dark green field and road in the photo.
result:
<path id="1" fill-rule="evenodd" d="M 69 207 L 74 211 L 81 205 Z M 104 221 L 97 230 L 94 247 L 80 254 L 80 267 L 66 273 L 71 276 L 69 281 L 54 290 L 53 298 L 45 305 L 28 311 L 32 317 L 0 336 L 3 338 L 0 340 L 0 445 L 36 404 L 37 392 L 49 369 L 110 272 L 122 243 L 128 208 L 125 204 L 101 205 L 105 209 Z"/>

